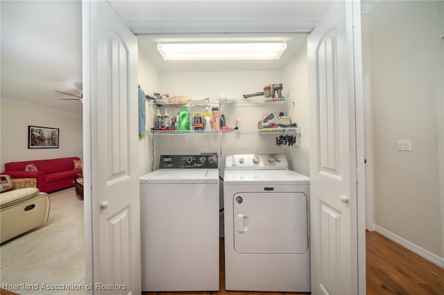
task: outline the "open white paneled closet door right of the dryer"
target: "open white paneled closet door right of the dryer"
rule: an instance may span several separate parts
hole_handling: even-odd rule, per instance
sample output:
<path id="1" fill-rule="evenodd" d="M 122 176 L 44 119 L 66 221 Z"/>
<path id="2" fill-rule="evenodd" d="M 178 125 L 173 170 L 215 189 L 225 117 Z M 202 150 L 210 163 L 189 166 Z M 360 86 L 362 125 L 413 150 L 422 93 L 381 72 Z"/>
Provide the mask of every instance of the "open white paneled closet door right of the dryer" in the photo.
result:
<path id="1" fill-rule="evenodd" d="M 355 5 L 334 1 L 307 41 L 312 294 L 358 294 Z"/>

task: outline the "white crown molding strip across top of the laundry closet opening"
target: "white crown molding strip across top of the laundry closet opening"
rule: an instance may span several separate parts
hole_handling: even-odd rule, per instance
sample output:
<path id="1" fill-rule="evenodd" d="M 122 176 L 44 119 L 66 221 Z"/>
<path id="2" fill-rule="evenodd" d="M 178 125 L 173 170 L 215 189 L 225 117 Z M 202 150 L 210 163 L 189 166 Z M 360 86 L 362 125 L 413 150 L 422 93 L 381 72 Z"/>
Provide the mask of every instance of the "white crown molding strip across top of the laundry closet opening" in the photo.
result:
<path id="1" fill-rule="evenodd" d="M 310 33 L 320 18 L 311 17 L 167 17 L 123 19 L 135 35 Z"/>

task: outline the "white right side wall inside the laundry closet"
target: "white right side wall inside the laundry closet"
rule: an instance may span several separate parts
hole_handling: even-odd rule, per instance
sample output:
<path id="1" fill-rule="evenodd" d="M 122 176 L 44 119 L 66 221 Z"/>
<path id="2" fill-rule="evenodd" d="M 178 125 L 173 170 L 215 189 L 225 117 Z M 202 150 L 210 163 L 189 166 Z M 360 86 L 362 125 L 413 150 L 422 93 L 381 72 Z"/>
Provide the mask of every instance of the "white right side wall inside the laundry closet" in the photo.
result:
<path id="1" fill-rule="evenodd" d="M 292 120 L 301 129 L 298 145 L 287 148 L 291 157 L 291 168 L 303 175 L 309 170 L 309 111 L 308 111 L 308 60 L 307 46 L 303 46 L 283 71 L 286 96 L 295 100 Z"/>

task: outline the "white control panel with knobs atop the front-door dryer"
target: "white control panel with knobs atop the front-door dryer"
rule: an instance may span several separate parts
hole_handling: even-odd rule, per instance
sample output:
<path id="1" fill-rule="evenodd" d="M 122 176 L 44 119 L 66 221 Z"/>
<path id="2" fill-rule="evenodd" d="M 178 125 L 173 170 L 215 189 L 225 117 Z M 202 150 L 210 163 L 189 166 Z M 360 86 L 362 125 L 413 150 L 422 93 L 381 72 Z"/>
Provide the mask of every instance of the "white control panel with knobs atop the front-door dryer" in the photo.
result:
<path id="1" fill-rule="evenodd" d="M 225 169 L 288 169 L 285 154 L 230 154 L 225 156 Z"/>

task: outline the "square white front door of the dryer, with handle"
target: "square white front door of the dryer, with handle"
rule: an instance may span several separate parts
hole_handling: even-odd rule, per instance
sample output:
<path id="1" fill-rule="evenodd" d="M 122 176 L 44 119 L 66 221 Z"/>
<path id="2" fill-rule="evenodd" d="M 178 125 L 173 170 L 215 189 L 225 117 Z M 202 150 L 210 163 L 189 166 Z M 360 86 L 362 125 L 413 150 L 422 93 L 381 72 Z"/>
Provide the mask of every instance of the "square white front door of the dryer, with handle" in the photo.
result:
<path id="1" fill-rule="evenodd" d="M 308 250 L 307 196 L 303 193 L 237 193 L 233 218 L 238 253 Z"/>

